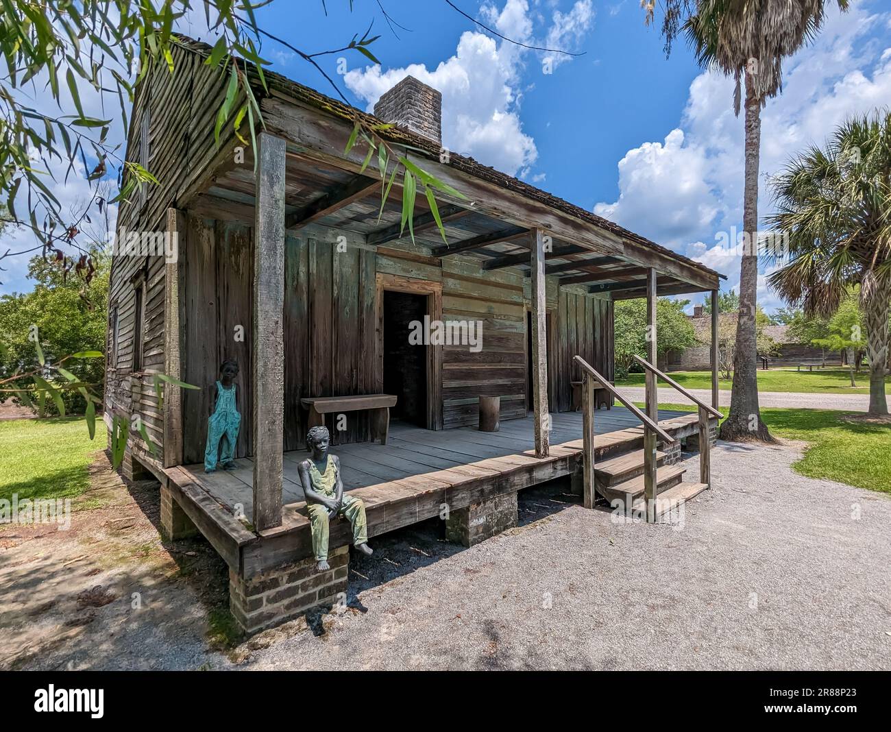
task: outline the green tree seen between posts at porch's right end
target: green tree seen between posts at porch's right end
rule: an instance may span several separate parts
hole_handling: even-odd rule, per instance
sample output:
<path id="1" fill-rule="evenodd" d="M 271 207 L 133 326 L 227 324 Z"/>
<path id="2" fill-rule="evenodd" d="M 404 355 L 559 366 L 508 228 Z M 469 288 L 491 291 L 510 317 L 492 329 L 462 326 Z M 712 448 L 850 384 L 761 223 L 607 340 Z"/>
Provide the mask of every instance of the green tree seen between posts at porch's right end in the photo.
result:
<path id="1" fill-rule="evenodd" d="M 658 354 L 683 350 L 696 343 L 696 333 L 683 313 L 684 302 L 659 297 L 656 305 Z M 642 298 L 618 300 L 615 305 L 616 376 L 631 370 L 634 356 L 647 357 L 647 303 Z"/>

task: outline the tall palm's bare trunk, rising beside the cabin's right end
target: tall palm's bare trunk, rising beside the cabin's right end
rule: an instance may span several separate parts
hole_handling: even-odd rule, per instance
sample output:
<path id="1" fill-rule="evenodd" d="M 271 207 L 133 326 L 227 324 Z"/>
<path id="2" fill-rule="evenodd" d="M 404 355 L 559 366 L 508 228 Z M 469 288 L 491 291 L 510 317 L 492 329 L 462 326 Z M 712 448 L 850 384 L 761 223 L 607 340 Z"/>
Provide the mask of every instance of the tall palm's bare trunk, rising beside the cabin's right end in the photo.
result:
<path id="1" fill-rule="evenodd" d="M 721 439 L 772 442 L 758 409 L 755 306 L 758 289 L 758 162 L 761 153 L 761 100 L 746 74 L 746 189 L 742 226 L 746 231 L 740 265 L 740 314 L 736 322 L 730 413 L 721 425 Z"/>

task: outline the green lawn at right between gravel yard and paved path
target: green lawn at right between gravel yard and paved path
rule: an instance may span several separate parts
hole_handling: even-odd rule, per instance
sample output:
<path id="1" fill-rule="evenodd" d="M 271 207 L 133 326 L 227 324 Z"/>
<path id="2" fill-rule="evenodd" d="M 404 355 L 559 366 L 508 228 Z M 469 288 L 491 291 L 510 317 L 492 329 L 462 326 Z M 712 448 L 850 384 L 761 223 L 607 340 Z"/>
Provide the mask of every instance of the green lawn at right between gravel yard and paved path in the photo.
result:
<path id="1" fill-rule="evenodd" d="M 690 404 L 659 404 L 659 408 L 691 411 Z M 721 411 L 726 417 L 728 408 Z M 800 475 L 891 493 L 891 427 L 850 424 L 845 414 L 779 407 L 761 410 L 775 437 L 811 443 L 805 456 L 792 464 Z"/>

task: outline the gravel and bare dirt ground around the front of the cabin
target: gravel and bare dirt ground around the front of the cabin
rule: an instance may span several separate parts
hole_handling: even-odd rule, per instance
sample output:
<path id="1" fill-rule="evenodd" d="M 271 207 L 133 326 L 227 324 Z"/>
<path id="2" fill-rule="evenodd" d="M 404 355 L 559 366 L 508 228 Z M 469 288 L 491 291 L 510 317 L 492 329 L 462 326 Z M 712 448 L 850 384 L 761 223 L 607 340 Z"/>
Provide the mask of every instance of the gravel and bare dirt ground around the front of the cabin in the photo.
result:
<path id="1" fill-rule="evenodd" d="M 378 537 L 346 609 L 243 639 L 223 562 L 161 541 L 157 485 L 100 453 L 68 532 L 0 527 L 0 669 L 891 668 L 891 497 L 797 476 L 796 446 L 713 456 L 673 525 L 557 482 L 471 549 L 437 520 Z"/>

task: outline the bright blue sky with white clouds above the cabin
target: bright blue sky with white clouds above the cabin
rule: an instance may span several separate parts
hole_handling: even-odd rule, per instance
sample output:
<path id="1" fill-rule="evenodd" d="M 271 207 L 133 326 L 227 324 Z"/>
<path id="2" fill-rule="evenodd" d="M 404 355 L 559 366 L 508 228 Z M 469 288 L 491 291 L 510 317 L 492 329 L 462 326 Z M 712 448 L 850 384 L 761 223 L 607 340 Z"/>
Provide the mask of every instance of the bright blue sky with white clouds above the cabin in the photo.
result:
<path id="1" fill-rule="evenodd" d="M 370 109 L 412 73 L 443 92 L 449 148 L 692 256 L 728 274 L 727 287 L 738 283 L 739 257 L 717 243 L 741 219 L 743 138 L 732 81 L 699 69 L 683 41 L 666 60 L 637 0 L 454 0 L 505 36 L 584 53 L 552 57 L 550 74 L 549 54 L 492 37 L 444 0 L 381 3 L 409 30 L 395 28 L 396 37 L 376 0 L 356 0 L 352 12 L 348 0 L 328 0 L 327 17 L 321 0 L 275 0 L 258 19 L 310 53 L 345 45 L 373 19 L 380 67 L 356 52 L 320 59 L 350 102 Z M 830 12 L 816 42 L 786 63 L 784 93 L 764 110 L 763 216 L 769 175 L 790 155 L 822 142 L 846 116 L 891 104 L 891 8 L 885 0 L 852 5 L 844 16 Z M 181 26 L 212 40 L 198 15 Z M 263 53 L 275 70 L 333 94 L 282 45 L 266 41 Z M 340 57 L 346 75 L 338 74 Z M 78 185 L 61 192 L 73 198 Z M 3 273 L 0 293 L 29 289 L 23 264 Z M 783 305 L 763 282 L 758 295 L 768 311 Z"/>

